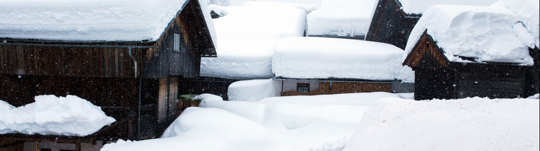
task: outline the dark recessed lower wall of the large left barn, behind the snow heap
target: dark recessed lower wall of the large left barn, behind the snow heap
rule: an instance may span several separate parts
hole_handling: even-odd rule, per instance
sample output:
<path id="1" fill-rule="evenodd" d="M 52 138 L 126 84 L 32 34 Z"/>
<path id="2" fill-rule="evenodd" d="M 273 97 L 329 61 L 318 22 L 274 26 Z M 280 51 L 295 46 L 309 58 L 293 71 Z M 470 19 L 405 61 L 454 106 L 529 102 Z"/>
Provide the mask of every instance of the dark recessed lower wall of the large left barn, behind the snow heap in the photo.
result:
<path id="1" fill-rule="evenodd" d="M 128 119 L 99 137 L 140 140 L 156 135 L 158 79 L 89 78 L 0 74 L 0 100 L 19 107 L 34 102 L 37 95 L 76 95 L 100 106 L 117 121 Z M 140 89 L 139 89 L 140 85 Z M 139 95 L 139 92 L 141 95 Z M 138 100 L 141 102 L 139 125 Z M 176 109 L 176 108 L 175 108 Z M 140 127 L 139 127 L 140 126 Z M 140 132 L 138 132 L 140 130 Z"/>

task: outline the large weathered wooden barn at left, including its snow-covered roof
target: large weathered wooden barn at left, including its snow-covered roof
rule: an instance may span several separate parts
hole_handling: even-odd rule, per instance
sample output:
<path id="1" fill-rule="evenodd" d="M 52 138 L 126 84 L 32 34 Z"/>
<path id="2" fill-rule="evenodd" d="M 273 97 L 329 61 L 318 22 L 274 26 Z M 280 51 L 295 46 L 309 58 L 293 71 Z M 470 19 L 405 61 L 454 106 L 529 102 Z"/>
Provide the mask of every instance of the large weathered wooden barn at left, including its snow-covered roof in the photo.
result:
<path id="1" fill-rule="evenodd" d="M 179 83 L 199 77 L 201 56 L 216 55 L 206 6 L 204 0 L 0 1 L 0 100 L 19 107 L 38 95 L 76 95 L 117 119 L 91 136 L 29 136 L 33 130 L 23 129 L 0 139 L 80 146 L 157 135 L 176 119 Z M 44 116 L 70 117 L 50 114 Z M 69 134 L 79 136 L 62 136 Z"/>

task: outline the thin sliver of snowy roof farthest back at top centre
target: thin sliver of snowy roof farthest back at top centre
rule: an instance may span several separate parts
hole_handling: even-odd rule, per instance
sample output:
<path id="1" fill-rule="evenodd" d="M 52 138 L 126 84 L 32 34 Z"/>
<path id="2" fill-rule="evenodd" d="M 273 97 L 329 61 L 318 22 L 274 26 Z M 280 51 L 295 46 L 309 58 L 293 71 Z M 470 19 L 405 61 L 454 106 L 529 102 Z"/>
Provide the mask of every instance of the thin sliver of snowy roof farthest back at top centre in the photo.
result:
<path id="1" fill-rule="evenodd" d="M 318 8 L 318 5 L 315 4 L 300 4 L 300 3 L 289 3 L 289 2 L 265 2 L 265 1 L 250 1 L 244 3 L 245 7 L 287 7 L 287 8 L 298 8 L 305 10 L 306 13 L 312 12 Z"/>

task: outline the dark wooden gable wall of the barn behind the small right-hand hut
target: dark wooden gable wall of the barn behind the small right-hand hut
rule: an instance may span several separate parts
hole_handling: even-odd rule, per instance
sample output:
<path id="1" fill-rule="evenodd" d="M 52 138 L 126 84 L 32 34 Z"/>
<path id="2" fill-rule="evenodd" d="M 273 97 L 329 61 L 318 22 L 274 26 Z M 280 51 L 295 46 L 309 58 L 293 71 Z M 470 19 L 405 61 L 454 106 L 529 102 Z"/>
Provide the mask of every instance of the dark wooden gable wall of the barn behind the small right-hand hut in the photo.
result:
<path id="1" fill-rule="evenodd" d="M 398 0 L 380 0 L 369 25 L 366 40 L 395 45 L 405 49 L 407 39 L 420 14 L 408 14 Z"/>

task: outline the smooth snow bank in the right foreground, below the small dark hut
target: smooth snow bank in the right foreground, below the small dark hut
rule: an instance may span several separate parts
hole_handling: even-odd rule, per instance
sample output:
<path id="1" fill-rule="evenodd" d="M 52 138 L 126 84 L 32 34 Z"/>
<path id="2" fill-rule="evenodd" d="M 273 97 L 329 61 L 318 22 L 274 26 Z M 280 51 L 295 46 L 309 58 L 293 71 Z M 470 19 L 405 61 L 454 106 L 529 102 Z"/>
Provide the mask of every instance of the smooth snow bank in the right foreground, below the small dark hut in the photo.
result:
<path id="1" fill-rule="evenodd" d="M 366 110 L 345 150 L 538 150 L 538 99 L 388 98 Z"/>

